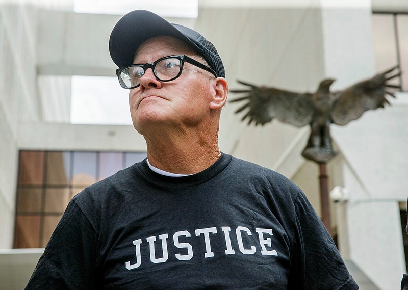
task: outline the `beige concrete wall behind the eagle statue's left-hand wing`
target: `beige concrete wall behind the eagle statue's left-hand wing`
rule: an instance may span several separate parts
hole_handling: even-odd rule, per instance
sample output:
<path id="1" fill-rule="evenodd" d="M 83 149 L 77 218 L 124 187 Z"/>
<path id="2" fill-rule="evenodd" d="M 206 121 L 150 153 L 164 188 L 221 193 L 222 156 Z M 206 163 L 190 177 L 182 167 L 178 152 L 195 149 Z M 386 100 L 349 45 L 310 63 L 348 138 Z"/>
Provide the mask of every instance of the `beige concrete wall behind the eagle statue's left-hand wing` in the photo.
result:
<path id="1" fill-rule="evenodd" d="M 219 50 L 230 88 L 242 88 L 236 82 L 242 80 L 294 91 L 316 89 L 324 65 L 320 12 L 314 5 L 248 9 L 205 3 L 196 28 L 209 35 Z M 228 98 L 237 96 L 230 93 Z M 305 129 L 278 122 L 248 127 L 240 122 L 242 115 L 234 114 L 240 106 L 229 103 L 222 113 L 221 148 L 263 166 L 278 167 L 288 144 L 303 140 Z"/>

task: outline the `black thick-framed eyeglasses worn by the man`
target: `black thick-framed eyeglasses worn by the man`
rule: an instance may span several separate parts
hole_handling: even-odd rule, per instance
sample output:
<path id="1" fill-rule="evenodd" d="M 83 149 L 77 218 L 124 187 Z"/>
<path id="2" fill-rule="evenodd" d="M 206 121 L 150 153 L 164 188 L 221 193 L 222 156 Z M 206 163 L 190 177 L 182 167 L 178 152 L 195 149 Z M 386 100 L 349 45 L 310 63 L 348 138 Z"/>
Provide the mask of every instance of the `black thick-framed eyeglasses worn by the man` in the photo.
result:
<path id="1" fill-rule="evenodd" d="M 140 86 L 140 78 L 146 72 L 146 69 L 151 68 L 156 78 L 162 82 L 169 82 L 175 80 L 182 74 L 184 62 L 188 62 L 196 67 L 202 68 L 214 74 L 217 74 L 214 70 L 202 63 L 189 58 L 186 55 L 168 56 L 158 59 L 152 63 L 146 64 L 133 64 L 126 67 L 121 67 L 116 70 L 119 83 L 122 88 L 133 89 Z"/>

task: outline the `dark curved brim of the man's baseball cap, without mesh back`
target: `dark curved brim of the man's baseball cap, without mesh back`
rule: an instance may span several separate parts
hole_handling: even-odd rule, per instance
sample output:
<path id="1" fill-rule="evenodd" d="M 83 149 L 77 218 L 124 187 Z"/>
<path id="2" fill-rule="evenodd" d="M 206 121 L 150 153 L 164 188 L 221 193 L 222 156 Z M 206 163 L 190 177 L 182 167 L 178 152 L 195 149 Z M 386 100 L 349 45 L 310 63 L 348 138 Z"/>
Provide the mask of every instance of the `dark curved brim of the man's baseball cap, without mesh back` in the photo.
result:
<path id="1" fill-rule="evenodd" d="M 168 35 L 181 39 L 198 52 L 201 49 L 171 23 L 146 10 L 135 10 L 124 15 L 115 25 L 109 39 L 109 52 L 118 67 L 133 63 L 137 48 L 145 40 Z"/>

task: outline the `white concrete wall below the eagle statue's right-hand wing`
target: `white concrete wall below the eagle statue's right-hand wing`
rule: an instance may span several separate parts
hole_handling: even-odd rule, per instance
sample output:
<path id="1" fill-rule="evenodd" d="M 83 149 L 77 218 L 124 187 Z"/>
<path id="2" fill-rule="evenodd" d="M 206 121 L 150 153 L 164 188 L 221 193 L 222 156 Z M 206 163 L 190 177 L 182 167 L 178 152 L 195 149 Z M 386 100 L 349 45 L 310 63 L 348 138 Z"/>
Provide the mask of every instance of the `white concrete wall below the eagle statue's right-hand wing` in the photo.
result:
<path id="1" fill-rule="evenodd" d="M 407 104 L 394 102 L 334 130 L 347 161 L 343 181 L 350 201 L 344 218 L 350 258 L 381 289 L 398 288 L 406 271 L 398 202 L 406 203 L 407 197 L 408 133 L 402 129 L 408 126 L 407 112 Z M 384 269 L 378 271 L 378 265 Z"/>

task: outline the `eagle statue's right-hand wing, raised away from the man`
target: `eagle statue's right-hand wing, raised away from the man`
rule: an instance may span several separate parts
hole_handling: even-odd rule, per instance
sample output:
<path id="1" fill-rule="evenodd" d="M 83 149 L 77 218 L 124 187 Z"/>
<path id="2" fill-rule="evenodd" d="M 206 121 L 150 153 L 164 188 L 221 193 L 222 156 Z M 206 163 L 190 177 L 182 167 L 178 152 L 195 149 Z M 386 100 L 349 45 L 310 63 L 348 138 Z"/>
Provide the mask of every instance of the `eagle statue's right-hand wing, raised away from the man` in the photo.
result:
<path id="1" fill-rule="evenodd" d="M 365 111 L 383 108 L 384 104 L 389 104 L 386 95 L 394 98 L 395 96 L 387 91 L 387 88 L 399 88 L 399 86 L 390 85 L 387 82 L 401 74 L 401 71 L 394 72 L 398 68 L 398 66 L 393 67 L 368 80 L 354 84 L 342 91 L 334 92 L 330 110 L 331 121 L 337 125 L 345 125 L 360 118 Z M 392 75 L 390 76 L 390 74 Z"/>

